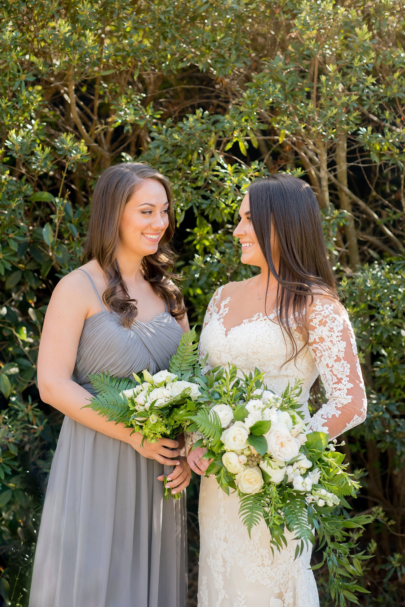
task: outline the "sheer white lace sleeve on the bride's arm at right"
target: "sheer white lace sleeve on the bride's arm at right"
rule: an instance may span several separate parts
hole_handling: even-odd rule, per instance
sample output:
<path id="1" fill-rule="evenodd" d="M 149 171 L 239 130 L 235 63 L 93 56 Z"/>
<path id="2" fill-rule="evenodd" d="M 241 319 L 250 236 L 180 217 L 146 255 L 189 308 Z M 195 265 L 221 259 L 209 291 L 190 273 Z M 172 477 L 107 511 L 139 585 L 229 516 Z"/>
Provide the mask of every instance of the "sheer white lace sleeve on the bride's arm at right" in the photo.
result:
<path id="1" fill-rule="evenodd" d="M 366 419 L 367 398 L 356 339 L 343 305 L 316 300 L 309 317 L 309 348 L 326 390 L 327 402 L 312 416 L 310 428 L 330 438 Z"/>

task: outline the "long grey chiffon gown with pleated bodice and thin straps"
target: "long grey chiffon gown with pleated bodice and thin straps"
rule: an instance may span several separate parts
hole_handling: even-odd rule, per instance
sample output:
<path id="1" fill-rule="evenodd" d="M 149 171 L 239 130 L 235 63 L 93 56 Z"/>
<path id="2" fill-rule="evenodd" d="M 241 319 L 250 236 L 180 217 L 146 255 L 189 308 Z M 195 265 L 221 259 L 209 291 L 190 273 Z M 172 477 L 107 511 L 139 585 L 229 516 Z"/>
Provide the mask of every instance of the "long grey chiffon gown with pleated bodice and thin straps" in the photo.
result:
<path id="1" fill-rule="evenodd" d="M 92 393 L 87 374 L 168 368 L 182 335 L 176 320 L 166 311 L 127 329 L 96 294 L 101 311 L 84 322 L 72 379 Z M 186 498 L 164 501 L 161 473 L 129 444 L 65 416 L 29 607 L 186 606 Z"/>

